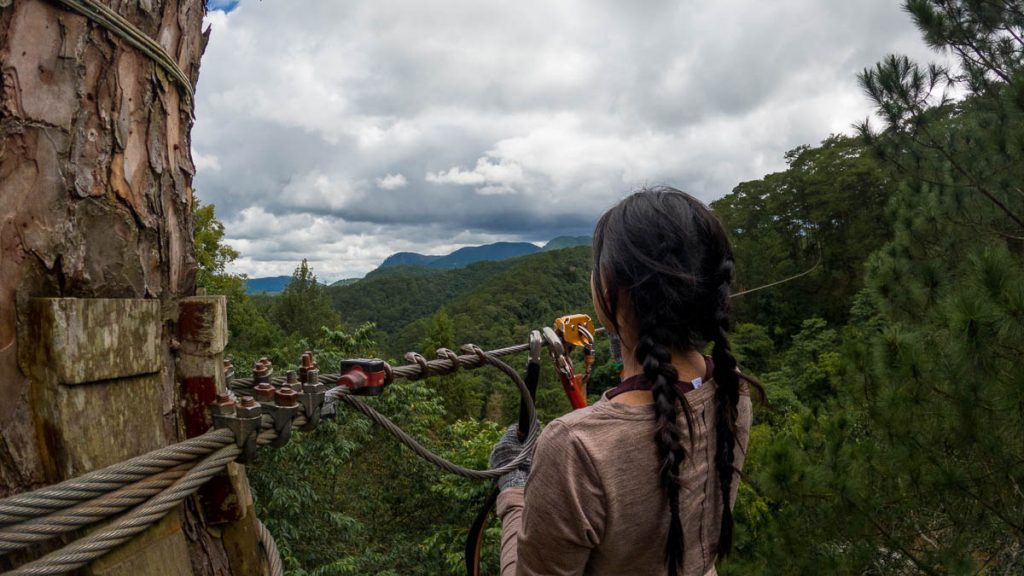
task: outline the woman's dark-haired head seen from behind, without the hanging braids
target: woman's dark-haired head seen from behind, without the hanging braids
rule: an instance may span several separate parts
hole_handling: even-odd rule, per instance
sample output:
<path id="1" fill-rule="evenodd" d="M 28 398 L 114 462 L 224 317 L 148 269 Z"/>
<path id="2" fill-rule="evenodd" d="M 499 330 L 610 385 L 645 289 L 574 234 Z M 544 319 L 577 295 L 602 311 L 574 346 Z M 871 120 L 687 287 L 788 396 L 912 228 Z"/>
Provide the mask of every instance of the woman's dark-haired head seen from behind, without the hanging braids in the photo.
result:
<path id="1" fill-rule="evenodd" d="M 722 224 L 678 190 L 633 194 L 605 212 L 594 231 L 594 303 L 615 332 L 699 348 L 714 340 L 715 313 L 728 303 L 720 290 L 731 277 L 732 250 Z M 618 326 L 624 321 L 628 326 Z"/>

